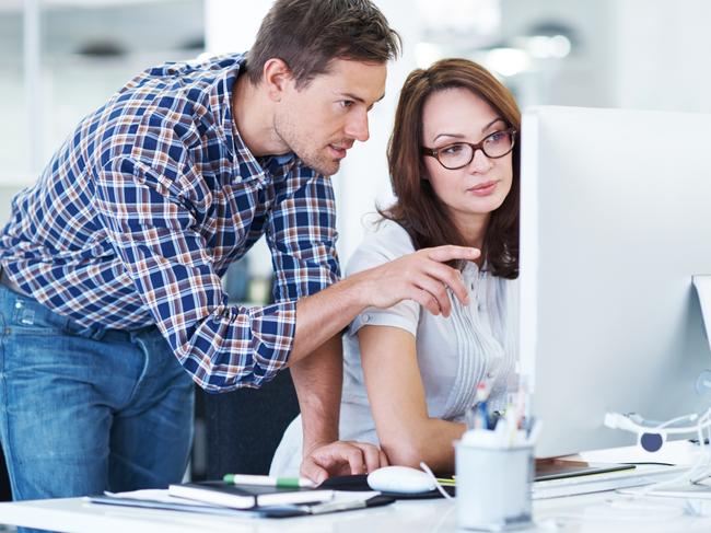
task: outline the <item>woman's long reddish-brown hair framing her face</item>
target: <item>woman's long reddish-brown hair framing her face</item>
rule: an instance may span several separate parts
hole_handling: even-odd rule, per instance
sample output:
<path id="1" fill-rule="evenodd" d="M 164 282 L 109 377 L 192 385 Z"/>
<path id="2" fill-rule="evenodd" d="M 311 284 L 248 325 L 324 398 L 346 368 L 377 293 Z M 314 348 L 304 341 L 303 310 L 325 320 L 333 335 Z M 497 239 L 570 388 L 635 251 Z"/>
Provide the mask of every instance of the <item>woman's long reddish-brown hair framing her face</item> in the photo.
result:
<path id="1" fill-rule="evenodd" d="M 446 89 L 462 88 L 485 100 L 516 131 L 521 112 L 511 92 L 483 67 L 467 59 L 442 59 L 429 69 L 412 71 L 403 85 L 395 126 L 387 146 L 387 161 L 397 197 L 378 212 L 403 225 L 416 250 L 443 244 L 466 245 L 436 197 L 427 175 L 422 146 L 422 109 L 427 99 Z M 513 149 L 513 181 L 503 204 L 491 213 L 481 246 L 487 268 L 502 278 L 518 276 L 518 190 L 521 143 Z"/>

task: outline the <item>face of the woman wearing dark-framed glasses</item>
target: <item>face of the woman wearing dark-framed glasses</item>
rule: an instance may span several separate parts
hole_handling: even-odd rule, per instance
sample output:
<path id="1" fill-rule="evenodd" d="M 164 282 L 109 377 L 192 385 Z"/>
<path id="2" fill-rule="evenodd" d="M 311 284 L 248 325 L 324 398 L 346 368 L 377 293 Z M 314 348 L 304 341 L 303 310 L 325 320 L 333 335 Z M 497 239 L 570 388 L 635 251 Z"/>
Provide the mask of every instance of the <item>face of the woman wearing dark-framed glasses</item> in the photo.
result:
<path id="1" fill-rule="evenodd" d="M 466 89 L 431 94 L 422 109 L 422 146 L 442 149 L 456 142 L 476 144 L 509 125 L 486 101 Z M 477 150 L 471 162 L 447 170 L 424 155 L 427 178 L 459 229 L 487 220 L 511 190 L 513 152 L 491 159 Z"/>

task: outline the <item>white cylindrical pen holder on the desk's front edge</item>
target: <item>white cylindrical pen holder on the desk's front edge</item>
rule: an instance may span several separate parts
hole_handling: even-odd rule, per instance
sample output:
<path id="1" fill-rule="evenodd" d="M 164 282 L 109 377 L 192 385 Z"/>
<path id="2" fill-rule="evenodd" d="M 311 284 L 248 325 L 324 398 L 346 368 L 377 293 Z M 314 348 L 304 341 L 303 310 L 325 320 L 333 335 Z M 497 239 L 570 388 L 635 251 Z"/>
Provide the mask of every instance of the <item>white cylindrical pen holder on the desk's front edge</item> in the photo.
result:
<path id="1" fill-rule="evenodd" d="M 462 440 L 454 447 L 458 526 L 504 531 L 532 525 L 533 445 Z"/>

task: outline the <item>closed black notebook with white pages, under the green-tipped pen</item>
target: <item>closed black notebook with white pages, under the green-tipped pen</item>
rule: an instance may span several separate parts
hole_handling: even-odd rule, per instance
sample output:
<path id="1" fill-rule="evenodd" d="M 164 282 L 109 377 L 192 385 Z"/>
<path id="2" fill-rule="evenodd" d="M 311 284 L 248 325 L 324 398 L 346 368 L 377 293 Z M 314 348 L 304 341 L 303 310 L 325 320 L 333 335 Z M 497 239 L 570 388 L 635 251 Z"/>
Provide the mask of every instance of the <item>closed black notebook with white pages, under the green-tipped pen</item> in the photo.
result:
<path id="1" fill-rule="evenodd" d="M 334 491 L 318 488 L 278 488 L 264 485 L 233 485 L 198 482 L 171 485 L 168 495 L 233 509 L 292 503 L 318 503 L 333 499 Z"/>

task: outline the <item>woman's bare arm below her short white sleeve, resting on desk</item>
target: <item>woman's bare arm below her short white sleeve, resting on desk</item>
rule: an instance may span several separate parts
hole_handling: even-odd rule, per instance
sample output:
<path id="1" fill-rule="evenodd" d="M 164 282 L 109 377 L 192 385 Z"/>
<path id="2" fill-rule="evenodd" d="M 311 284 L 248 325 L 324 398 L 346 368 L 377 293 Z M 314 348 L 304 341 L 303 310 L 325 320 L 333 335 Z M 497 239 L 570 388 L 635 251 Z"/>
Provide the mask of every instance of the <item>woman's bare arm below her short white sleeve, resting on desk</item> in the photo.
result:
<path id="1" fill-rule="evenodd" d="M 391 464 L 454 472 L 453 441 L 464 424 L 428 415 L 415 337 L 399 327 L 364 326 L 358 332 L 368 398 L 377 438 Z"/>

